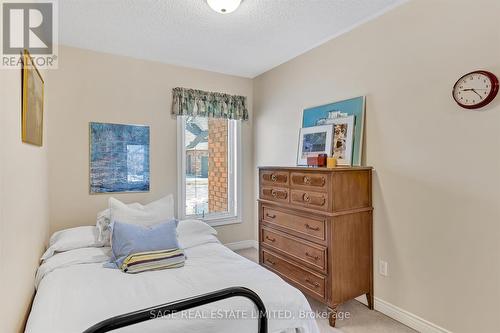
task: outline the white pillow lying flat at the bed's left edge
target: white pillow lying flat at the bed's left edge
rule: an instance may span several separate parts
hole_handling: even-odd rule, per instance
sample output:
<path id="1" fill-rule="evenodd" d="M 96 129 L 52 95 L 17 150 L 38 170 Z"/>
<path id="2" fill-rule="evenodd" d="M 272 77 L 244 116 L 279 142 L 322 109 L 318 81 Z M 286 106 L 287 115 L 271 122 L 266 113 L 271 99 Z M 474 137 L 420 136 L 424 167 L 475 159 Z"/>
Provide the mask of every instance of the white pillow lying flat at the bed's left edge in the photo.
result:
<path id="1" fill-rule="evenodd" d="M 50 237 L 49 248 L 41 260 L 47 260 L 56 252 L 64 252 L 84 247 L 102 247 L 98 241 L 98 230 L 95 226 L 84 226 L 58 231 Z"/>

